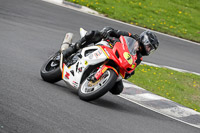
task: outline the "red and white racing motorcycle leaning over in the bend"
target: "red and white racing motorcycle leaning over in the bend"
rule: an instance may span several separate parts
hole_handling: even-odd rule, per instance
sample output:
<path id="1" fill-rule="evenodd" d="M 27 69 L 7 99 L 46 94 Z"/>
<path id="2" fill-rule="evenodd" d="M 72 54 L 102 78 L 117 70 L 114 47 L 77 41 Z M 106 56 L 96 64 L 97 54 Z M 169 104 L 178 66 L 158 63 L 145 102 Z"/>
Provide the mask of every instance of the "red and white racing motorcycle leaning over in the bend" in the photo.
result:
<path id="1" fill-rule="evenodd" d="M 81 37 L 86 33 L 80 28 Z M 63 80 L 78 90 L 80 99 L 91 101 L 108 91 L 115 91 L 115 83 L 135 70 L 137 56 L 133 38 L 102 39 L 64 58 L 62 51 L 74 44 L 72 38 L 73 34 L 67 33 L 61 49 L 42 66 L 40 73 L 44 81 L 55 83 Z"/>

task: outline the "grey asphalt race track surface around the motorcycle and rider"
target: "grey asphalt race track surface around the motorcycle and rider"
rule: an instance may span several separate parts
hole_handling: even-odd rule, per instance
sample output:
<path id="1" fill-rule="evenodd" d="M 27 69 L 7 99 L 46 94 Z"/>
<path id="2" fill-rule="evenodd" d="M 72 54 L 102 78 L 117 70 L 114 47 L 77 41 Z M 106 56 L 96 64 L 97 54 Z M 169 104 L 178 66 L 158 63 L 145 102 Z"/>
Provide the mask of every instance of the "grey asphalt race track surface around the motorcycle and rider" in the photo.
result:
<path id="1" fill-rule="evenodd" d="M 107 94 L 81 101 L 63 82 L 49 84 L 39 70 L 63 37 L 79 27 L 111 25 L 142 32 L 40 0 L 0 0 L 1 133 L 199 133 L 198 128 Z M 199 46 L 158 35 L 162 46 L 146 61 L 199 72 Z"/>

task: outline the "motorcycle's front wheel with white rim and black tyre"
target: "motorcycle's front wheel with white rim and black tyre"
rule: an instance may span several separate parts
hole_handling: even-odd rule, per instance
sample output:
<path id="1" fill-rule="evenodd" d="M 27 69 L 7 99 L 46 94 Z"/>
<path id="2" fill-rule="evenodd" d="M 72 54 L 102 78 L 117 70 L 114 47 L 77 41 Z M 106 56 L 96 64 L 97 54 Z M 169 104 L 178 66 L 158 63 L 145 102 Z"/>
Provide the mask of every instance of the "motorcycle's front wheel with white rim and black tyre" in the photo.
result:
<path id="1" fill-rule="evenodd" d="M 92 101 L 107 93 L 117 80 L 117 74 L 112 69 L 107 69 L 96 82 L 86 78 L 81 84 L 78 95 L 84 101 Z"/>

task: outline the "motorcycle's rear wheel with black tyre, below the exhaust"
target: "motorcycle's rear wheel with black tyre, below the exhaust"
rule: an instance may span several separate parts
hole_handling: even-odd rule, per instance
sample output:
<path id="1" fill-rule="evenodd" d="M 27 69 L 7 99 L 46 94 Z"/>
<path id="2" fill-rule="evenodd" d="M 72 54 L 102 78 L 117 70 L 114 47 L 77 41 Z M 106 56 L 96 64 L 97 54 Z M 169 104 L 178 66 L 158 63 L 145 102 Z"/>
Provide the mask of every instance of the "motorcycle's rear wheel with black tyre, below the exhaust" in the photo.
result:
<path id="1" fill-rule="evenodd" d="M 62 79 L 60 70 L 60 52 L 56 52 L 43 64 L 40 70 L 41 77 L 44 81 L 55 83 Z"/>

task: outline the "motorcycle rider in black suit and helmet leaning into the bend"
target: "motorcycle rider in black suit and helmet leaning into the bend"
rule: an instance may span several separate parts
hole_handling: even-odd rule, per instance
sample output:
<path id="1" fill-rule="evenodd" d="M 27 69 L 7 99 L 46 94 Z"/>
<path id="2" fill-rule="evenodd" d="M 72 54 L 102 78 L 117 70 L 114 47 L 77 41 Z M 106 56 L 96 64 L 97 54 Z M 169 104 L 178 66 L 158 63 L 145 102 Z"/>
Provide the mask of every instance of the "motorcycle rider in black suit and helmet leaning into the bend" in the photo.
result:
<path id="1" fill-rule="evenodd" d="M 111 27 L 104 27 L 101 31 L 90 31 L 87 32 L 84 37 L 82 37 L 79 41 L 75 43 L 75 45 L 70 45 L 69 48 L 63 51 L 63 56 L 65 58 L 69 57 L 71 54 L 75 53 L 81 48 L 84 48 L 88 46 L 91 43 L 97 43 L 101 41 L 102 39 L 107 40 L 109 37 L 115 37 L 119 38 L 120 36 L 128 36 L 135 39 L 138 43 L 135 43 L 137 46 L 137 60 L 136 64 L 139 65 L 142 61 L 142 56 L 148 56 L 150 53 L 152 53 L 154 50 L 156 50 L 159 46 L 158 39 L 154 33 L 147 30 L 144 31 L 138 36 L 137 34 L 131 34 L 126 31 L 120 31 L 113 29 Z M 126 74 L 125 79 L 129 78 L 131 75 L 134 74 Z M 118 81 L 113 89 L 110 90 L 112 94 L 118 95 L 122 92 L 124 86 L 122 83 L 122 80 Z"/>

